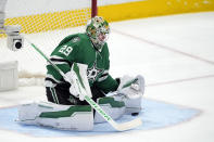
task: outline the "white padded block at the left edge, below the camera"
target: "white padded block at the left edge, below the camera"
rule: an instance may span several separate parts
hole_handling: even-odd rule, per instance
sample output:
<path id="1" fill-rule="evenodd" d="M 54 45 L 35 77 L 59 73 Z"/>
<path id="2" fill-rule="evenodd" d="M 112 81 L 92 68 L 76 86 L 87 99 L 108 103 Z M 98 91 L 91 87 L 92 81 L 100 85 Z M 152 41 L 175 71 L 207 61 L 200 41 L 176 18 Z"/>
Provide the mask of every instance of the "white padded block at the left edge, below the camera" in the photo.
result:
<path id="1" fill-rule="evenodd" d="M 17 88 L 17 61 L 0 62 L 0 91 Z"/>

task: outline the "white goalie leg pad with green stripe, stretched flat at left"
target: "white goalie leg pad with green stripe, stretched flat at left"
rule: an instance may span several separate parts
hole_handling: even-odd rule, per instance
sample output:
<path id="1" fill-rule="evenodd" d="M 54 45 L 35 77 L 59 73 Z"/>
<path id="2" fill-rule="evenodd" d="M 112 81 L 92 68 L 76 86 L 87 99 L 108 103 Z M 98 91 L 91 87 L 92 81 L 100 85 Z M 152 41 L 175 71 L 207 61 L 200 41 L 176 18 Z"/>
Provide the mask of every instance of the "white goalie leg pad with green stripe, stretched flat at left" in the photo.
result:
<path id="1" fill-rule="evenodd" d="M 93 128 L 93 113 L 89 105 L 35 102 L 18 107 L 18 121 L 64 130 L 89 131 Z"/>

